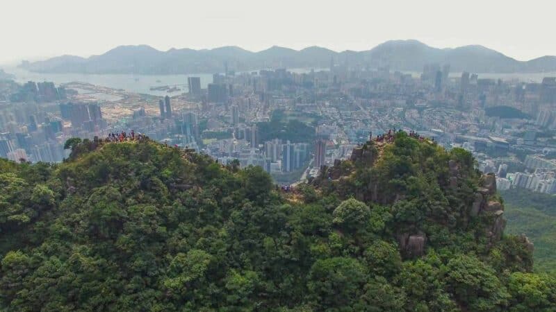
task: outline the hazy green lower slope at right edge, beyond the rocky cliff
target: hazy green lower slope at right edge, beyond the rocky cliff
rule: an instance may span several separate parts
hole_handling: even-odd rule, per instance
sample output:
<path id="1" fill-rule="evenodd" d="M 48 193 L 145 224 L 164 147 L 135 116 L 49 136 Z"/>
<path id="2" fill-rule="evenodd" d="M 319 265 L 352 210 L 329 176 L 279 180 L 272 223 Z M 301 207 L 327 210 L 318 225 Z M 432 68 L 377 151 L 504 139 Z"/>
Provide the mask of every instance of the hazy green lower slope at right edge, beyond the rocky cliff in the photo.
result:
<path id="1" fill-rule="evenodd" d="M 524 189 L 502 192 L 507 232 L 526 234 L 534 243 L 534 269 L 556 275 L 556 196 Z"/>

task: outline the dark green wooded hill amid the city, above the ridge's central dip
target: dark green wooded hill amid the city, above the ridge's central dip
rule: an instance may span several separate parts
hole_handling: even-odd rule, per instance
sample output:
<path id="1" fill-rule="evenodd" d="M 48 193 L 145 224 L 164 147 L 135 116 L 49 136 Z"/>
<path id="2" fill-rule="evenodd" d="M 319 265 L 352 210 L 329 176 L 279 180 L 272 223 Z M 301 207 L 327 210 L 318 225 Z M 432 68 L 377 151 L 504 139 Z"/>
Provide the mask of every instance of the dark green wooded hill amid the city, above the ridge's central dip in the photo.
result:
<path id="1" fill-rule="evenodd" d="M 272 113 L 270 121 L 257 123 L 257 128 L 261 142 L 281 139 L 292 143 L 310 143 L 315 138 L 315 128 L 297 119 L 288 119 L 280 110 Z"/>

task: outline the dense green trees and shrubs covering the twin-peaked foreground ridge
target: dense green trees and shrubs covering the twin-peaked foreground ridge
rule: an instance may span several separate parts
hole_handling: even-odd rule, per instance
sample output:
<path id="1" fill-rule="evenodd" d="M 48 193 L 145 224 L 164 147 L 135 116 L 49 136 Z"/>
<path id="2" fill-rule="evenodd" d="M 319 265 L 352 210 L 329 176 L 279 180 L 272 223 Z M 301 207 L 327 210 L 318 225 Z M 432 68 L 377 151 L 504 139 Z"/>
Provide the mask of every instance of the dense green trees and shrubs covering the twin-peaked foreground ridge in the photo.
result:
<path id="1" fill-rule="evenodd" d="M 469 216 L 482 177 L 464 150 L 400 134 L 282 193 L 261 168 L 150 141 L 70 143 L 59 165 L 0 160 L 2 310 L 556 309 L 521 239 Z"/>

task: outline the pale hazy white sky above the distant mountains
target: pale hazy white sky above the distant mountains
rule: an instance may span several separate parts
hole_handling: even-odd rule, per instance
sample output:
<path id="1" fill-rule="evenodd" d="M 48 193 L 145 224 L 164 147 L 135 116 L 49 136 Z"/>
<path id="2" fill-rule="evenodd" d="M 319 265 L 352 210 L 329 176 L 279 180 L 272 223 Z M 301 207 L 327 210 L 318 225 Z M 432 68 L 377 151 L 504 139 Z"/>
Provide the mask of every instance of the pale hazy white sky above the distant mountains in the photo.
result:
<path id="1" fill-rule="evenodd" d="M 556 55 L 555 0 L 0 0 L 0 62 L 156 49 L 272 45 L 366 50 L 386 40 Z"/>

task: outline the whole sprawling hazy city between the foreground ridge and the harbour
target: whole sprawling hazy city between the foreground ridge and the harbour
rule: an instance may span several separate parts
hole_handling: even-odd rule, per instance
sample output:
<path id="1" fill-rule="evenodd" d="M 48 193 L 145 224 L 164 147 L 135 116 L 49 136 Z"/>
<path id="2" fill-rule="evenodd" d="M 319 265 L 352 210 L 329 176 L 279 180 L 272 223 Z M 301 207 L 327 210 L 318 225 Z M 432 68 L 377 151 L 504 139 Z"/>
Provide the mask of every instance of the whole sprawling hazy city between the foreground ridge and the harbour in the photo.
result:
<path id="1" fill-rule="evenodd" d="M 82 101 L 52 83 L 27 83 L 0 92 L 7 98 L 0 101 L 0 156 L 59 160 L 67 137 L 133 129 L 295 182 L 350 157 L 369 135 L 403 129 L 470 150 L 479 168 L 499 173 L 500 189 L 553 193 L 556 78 L 492 77 L 452 73 L 450 64 L 427 64 L 422 73 L 334 60 L 320 71 L 236 73 L 225 66 L 210 82 L 184 78 L 188 91 L 179 96 L 125 94 L 111 103 Z M 108 120 L 101 110 L 121 118 Z M 288 131 L 291 121 L 311 133 Z M 268 124 L 275 132 L 262 132 Z"/>

